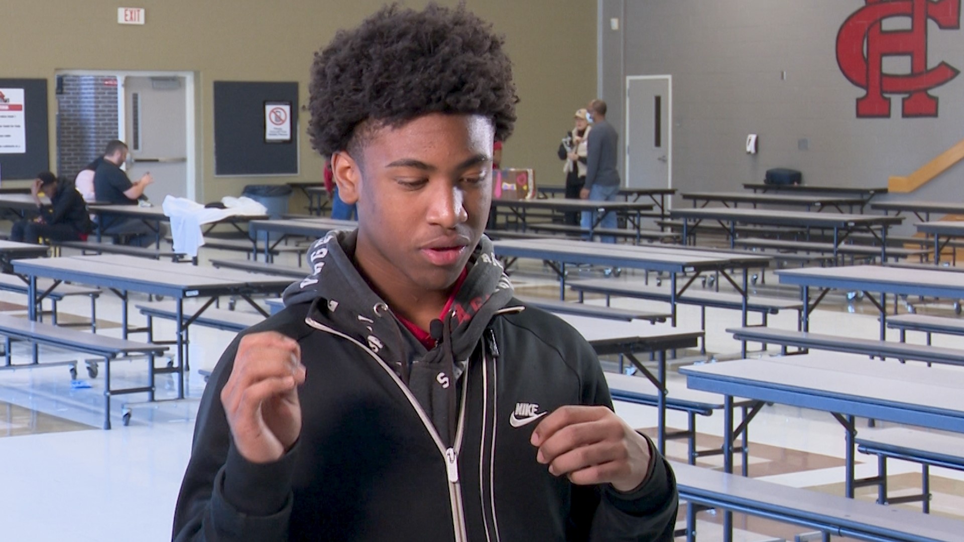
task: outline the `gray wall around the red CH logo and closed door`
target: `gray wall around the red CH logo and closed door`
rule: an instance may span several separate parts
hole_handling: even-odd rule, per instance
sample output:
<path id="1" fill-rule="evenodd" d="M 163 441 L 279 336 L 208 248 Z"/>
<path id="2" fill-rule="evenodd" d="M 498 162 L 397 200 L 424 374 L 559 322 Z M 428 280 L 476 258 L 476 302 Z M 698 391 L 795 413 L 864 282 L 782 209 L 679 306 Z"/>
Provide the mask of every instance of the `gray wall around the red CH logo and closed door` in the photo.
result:
<path id="1" fill-rule="evenodd" d="M 804 182 L 886 186 L 964 139 L 964 75 L 931 91 L 939 117 L 903 119 L 891 95 L 890 119 L 857 119 L 864 91 L 837 65 L 837 33 L 863 0 L 599 0 L 603 98 L 622 131 L 625 76 L 673 76 L 673 184 L 681 191 L 737 190 L 772 167 Z M 620 31 L 609 17 L 625 13 Z M 909 28 L 890 19 L 885 30 Z M 964 31 L 928 24 L 928 67 L 964 69 Z M 906 73 L 908 57 L 885 71 Z M 781 72 L 787 72 L 786 80 Z M 746 154 L 746 134 L 760 152 Z M 809 150 L 798 140 L 809 140 Z M 625 142 L 625 139 L 622 141 Z M 902 198 L 964 201 L 957 164 Z"/>

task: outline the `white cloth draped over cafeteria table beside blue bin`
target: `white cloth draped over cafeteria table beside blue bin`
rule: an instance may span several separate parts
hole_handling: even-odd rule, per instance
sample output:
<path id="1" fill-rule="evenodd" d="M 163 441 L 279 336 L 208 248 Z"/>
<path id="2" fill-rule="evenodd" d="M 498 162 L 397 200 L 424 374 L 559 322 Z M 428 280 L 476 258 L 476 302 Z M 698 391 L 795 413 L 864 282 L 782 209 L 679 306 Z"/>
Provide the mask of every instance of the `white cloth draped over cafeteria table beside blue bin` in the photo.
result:
<path id="1" fill-rule="evenodd" d="M 198 248 L 204 244 L 204 234 L 201 226 L 229 216 L 256 216 L 267 214 L 268 209 L 251 198 L 232 198 L 227 196 L 221 200 L 225 208 L 205 207 L 201 203 L 187 198 L 167 196 L 161 208 L 164 214 L 171 218 L 171 237 L 174 239 L 174 252 L 189 257 L 198 256 Z"/>

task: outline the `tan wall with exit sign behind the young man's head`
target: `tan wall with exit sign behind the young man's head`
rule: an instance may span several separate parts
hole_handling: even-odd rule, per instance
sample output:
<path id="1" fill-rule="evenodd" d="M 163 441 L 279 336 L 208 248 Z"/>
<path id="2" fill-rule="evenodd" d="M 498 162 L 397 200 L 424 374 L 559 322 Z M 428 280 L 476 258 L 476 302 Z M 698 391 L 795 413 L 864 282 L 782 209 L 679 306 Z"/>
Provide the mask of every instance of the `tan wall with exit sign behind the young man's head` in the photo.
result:
<path id="1" fill-rule="evenodd" d="M 454 2 L 442 2 L 452 4 Z M 409 2 L 420 6 L 424 2 Z M 147 24 L 117 23 L 117 8 L 147 9 Z M 214 81 L 298 81 L 308 99 L 312 54 L 339 28 L 376 11 L 379 0 L 8 0 L 0 23 L 0 77 L 50 83 L 51 164 L 56 164 L 58 69 L 179 70 L 197 74 L 197 154 L 202 201 L 237 195 L 250 182 L 273 179 L 214 176 Z M 562 182 L 555 156 L 573 111 L 595 92 L 596 3 L 591 0 L 470 0 L 469 8 L 506 35 L 522 103 L 503 164 L 534 167 L 541 183 Z M 300 118 L 301 175 L 317 180 L 321 159 Z"/>

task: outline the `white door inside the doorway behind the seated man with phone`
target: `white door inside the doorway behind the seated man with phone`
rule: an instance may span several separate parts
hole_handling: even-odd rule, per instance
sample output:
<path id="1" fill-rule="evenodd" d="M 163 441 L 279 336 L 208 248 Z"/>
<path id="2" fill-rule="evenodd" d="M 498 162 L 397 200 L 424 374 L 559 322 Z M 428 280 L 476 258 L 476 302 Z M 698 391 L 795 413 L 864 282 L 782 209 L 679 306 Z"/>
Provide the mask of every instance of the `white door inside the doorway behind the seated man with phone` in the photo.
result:
<path id="1" fill-rule="evenodd" d="M 124 134 L 133 163 L 127 176 L 147 172 L 154 182 L 145 194 L 160 205 L 168 194 L 188 197 L 187 85 L 179 75 L 123 78 Z"/>

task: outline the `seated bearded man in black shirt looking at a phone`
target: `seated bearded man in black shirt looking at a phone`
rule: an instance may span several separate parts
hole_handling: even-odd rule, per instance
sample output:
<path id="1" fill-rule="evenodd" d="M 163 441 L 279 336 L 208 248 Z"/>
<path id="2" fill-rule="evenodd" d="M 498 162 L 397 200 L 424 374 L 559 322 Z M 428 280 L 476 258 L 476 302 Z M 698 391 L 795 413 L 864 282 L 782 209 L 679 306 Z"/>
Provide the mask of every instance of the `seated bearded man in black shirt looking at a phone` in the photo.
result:
<path id="1" fill-rule="evenodd" d="M 136 205 L 144 196 L 147 185 L 154 181 L 150 174 L 145 174 L 137 182 L 131 182 L 127 174 L 120 169 L 120 164 L 127 159 L 127 146 L 118 140 L 111 141 L 104 150 L 104 159 L 94 172 L 94 199 L 97 203 L 111 203 L 115 205 Z M 102 233 L 106 235 L 133 236 L 131 244 L 147 244 L 144 237 L 153 237 L 156 232 L 142 220 L 137 218 L 116 219 L 102 218 L 100 225 Z M 161 232 L 163 234 L 163 231 Z"/>

